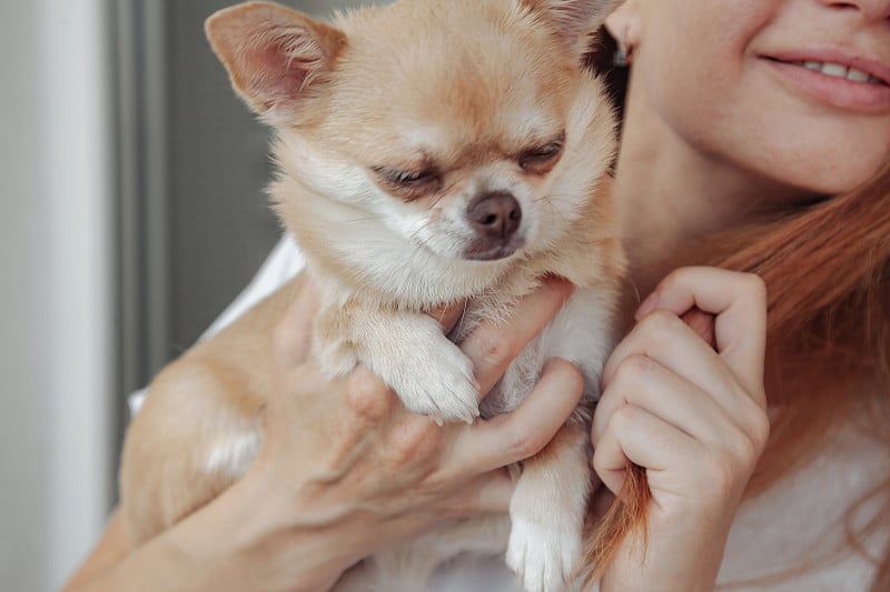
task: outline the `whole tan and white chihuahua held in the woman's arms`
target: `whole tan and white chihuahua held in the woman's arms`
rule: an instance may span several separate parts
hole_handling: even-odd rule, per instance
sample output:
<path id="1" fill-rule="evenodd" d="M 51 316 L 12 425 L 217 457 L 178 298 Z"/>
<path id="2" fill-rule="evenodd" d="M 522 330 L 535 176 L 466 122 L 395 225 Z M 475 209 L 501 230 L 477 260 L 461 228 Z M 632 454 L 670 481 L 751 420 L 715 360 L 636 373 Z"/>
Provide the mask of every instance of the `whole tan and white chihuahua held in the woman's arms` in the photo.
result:
<path id="1" fill-rule="evenodd" d="M 437 422 L 515 409 L 548 359 L 585 398 L 515 468 L 510 516 L 468 519 L 365 560 L 340 590 L 416 591 L 467 551 L 506 552 L 530 592 L 571 585 L 593 475 L 589 420 L 624 271 L 610 191 L 615 118 L 584 66 L 620 0 L 400 0 L 330 23 L 266 2 L 207 21 L 233 86 L 276 131 L 270 188 L 322 302 L 313 355 L 365 364 Z M 542 277 L 577 290 L 479 404 L 461 341 Z M 218 495 L 249 466 L 286 289 L 159 374 L 123 450 L 135 541 Z M 464 303 L 453 334 L 428 311 Z"/>

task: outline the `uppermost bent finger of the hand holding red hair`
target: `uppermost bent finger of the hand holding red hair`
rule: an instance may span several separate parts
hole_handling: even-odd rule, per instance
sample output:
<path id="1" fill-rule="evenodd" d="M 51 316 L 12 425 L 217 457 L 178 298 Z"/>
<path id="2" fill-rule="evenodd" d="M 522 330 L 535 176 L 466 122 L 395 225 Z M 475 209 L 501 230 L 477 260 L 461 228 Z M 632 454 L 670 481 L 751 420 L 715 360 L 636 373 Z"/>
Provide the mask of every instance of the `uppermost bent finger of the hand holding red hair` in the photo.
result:
<path id="1" fill-rule="evenodd" d="M 752 397 L 765 405 L 763 351 L 767 288 L 759 277 L 714 268 L 683 268 L 662 281 L 637 310 L 637 319 L 662 309 L 681 315 L 692 308 L 715 315 L 720 357 Z"/>

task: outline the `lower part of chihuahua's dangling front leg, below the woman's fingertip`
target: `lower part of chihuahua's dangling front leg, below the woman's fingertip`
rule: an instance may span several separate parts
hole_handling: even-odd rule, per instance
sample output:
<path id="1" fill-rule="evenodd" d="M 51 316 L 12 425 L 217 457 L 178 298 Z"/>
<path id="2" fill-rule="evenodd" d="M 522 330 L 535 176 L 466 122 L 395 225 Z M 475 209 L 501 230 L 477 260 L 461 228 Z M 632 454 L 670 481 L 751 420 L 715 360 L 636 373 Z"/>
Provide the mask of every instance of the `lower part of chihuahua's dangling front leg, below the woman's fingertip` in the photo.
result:
<path id="1" fill-rule="evenodd" d="M 524 463 L 510 504 L 507 565 L 528 592 L 572 588 L 591 491 L 589 449 L 585 424 L 570 420 L 544 451 Z"/>

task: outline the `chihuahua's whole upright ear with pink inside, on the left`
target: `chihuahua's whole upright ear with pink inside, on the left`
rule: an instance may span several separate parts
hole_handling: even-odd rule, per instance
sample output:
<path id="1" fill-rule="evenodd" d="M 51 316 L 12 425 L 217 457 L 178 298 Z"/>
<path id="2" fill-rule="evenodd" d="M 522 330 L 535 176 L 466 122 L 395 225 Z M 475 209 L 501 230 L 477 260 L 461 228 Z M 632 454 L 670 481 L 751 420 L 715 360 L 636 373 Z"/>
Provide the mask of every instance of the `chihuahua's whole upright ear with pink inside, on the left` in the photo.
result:
<path id="1" fill-rule="evenodd" d="M 346 46 L 340 30 L 270 2 L 220 10 L 205 31 L 231 84 L 273 126 L 298 118 L 300 103 L 317 96 Z"/>

